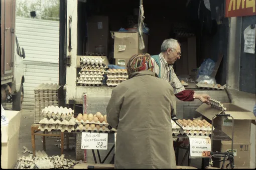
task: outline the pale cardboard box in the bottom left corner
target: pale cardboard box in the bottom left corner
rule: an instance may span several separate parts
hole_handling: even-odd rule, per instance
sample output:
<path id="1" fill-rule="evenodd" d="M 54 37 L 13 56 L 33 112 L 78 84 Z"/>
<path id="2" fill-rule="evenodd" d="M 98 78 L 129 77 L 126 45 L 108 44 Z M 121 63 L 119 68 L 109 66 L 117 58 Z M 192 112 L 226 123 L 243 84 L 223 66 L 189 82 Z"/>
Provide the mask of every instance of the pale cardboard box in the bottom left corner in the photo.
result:
<path id="1" fill-rule="evenodd" d="M 13 168 L 17 162 L 17 154 L 19 147 L 19 133 L 21 123 L 21 111 L 5 110 L 9 124 L 1 126 L 1 167 Z M 6 131 L 6 133 L 2 133 Z"/>

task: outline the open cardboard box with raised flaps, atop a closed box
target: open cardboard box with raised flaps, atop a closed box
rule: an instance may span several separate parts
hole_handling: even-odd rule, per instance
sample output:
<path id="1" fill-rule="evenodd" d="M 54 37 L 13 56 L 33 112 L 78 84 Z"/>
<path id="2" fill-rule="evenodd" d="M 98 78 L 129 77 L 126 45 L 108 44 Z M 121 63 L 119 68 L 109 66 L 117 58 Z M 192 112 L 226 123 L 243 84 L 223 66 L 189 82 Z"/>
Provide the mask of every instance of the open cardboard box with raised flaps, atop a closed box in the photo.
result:
<path id="1" fill-rule="evenodd" d="M 225 114 L 230 114 L 234 118 L 234 143 L 246 143 L 250 141 L 250 129 L 251 122 L 255 123 L 255 116 L 252 112 L 245 110 L 237 105 L 232 103 L 222 103 L 224 107 L 227 108 L 227 111 L 223 111 Z M 221 110 L 217 108 L 211 107 L 211 105 L 207 105 L 203 103 L 197 109 L 197 112 L 201 113 L 203 116 L 212 120 L 212 117 L 215 114 L 222 113 Z M 213 126 L 216 128 L 220 128 L 224 133 L 226 133 L 229 137 L 232 137 L 232 118 L 219 116 L 214 119 Z"/>

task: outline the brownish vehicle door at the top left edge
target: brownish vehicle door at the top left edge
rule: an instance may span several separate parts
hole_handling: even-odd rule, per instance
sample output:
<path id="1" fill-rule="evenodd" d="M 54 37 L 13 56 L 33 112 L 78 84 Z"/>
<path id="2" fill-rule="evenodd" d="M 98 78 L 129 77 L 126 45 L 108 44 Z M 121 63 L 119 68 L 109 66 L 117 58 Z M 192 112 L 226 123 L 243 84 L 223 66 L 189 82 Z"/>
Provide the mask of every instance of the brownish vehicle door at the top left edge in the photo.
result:
<path id="1" fill-rule="evenodd" d="M 13 75 L 15 0 L 1 0 L 1 75 Z"/>

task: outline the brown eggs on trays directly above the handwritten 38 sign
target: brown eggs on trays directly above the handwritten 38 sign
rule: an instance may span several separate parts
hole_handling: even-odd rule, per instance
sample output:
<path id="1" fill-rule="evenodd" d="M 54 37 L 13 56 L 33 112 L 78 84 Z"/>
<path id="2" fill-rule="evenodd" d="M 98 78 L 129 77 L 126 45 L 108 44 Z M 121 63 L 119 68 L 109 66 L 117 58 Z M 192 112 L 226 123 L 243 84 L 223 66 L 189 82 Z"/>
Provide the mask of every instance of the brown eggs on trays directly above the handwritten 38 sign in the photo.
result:
<path id="1" fill-rule="evenodd" d="M 81 114 L 79 113 L 76 117 L 77 127 L 75 128 L 76 131 L 96 131 L 96 132 L 110 132 L 116 131 L 116 129 L 111 128 L 109 129 L 109 124 L 107 123 L 106 115 L 102 115 L 100 112 L 96 114 Z"/>

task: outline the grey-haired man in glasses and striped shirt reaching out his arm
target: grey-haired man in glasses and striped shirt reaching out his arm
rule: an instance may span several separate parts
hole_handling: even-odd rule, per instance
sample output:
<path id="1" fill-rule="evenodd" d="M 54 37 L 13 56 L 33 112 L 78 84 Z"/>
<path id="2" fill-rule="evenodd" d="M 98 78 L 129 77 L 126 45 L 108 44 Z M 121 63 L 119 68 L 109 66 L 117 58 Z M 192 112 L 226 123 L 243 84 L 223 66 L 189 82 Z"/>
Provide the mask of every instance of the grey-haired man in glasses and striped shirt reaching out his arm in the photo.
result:
<path id="1" fill-rule="evenodd" d="M 181 57 L 180 43 L 176 39 L 166 39 L 161 45 L 161 53 L 159 55 L 152 55 L 151 60 L 154 65 L 154 72 L 159 77 L 170 82 L 174 88 L 175 96 L 182 101 L 193 101 L 195 98 L 209 104 L 207 94 L 197 94 L 193 90 L 186 90 L 181 84 L 179 78 L 173 69 L 173 64 Z"/>

